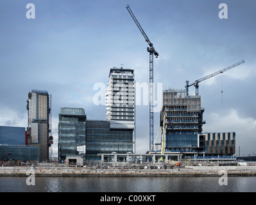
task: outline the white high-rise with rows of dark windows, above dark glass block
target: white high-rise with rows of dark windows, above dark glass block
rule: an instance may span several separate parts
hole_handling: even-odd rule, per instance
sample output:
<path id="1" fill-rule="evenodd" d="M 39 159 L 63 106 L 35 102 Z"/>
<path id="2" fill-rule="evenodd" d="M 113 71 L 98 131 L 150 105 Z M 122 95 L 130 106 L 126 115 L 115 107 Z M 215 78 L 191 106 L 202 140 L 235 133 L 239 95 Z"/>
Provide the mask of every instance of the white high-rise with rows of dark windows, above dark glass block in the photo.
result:
<path id="1" fill-rule="evenodd" d="M 110 69 L 106 90 L 107 120 L 112 128 L 134 129 L 135 83 L 132 69 Z"/>

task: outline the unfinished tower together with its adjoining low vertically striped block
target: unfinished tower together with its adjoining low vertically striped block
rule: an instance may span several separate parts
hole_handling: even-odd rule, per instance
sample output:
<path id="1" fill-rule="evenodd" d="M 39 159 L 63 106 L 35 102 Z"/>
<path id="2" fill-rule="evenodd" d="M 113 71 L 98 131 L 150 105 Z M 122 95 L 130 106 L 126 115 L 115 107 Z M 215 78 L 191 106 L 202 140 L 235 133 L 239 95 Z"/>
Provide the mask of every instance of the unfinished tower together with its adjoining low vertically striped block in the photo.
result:
<path id="1" fill-rule="evenodd" d="M 163 92 L 162 154 L 182 154 L 183 158 L 196 160 L 233 158 L 235 133 L 202 133 L 203 111 L 200 95 L 188 95 L 186 90 L 174 89 Z"/>

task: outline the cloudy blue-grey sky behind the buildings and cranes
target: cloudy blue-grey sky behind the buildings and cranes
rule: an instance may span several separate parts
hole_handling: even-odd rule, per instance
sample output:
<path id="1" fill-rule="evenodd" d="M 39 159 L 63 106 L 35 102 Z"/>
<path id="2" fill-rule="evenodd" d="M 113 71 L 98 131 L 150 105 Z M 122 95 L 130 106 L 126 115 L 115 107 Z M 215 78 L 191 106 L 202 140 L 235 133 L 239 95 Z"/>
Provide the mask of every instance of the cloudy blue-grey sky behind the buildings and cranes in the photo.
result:
<path id="1" fill-rule="evenodd" d="M 35 4 L 35 19 L 26 17 L 28 3 Z M 228 19 L 219 19 L 221 3 L 228 6 Z M 237 155 L 239 146 L 241 155 L 255 154 L 253 0 L 0 0 L 0 126 L 26 127 L 28 92 L 47 90 L 57 156 L 61 107 L 84 108 L 87 119 L 105 120 L 105 106 L 93 102 L 98 92 L 93 87 L 107 85 L 109 70 L 121 64 L 135 70 L 138 83 L 148 83 L 148 44 L 126 4 L 159 53 L 154 82 L 164 90 L 183 89 L 186 80 L 192 83 L 245 60 L 200 83 L 203 132 L 235 131 Z M 136 151 L 144 153 L 149 149 L 147 105 L 137 106 L 136 122 Z M 157 136 L 159 112 L 154 122 Z"/>

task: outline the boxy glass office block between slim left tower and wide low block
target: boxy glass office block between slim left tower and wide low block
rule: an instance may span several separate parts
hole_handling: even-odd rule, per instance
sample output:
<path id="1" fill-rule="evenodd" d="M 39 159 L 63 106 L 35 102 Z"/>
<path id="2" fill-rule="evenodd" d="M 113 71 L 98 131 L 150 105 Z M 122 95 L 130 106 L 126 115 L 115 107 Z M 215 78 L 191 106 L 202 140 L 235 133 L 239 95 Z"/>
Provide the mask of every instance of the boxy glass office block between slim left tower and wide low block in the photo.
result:
<path id="1" fill-rule="evenodd" d="M 60 108 L 58 124 L 58 159 L 85 156 L 86 115 L 83 108 Z"/>

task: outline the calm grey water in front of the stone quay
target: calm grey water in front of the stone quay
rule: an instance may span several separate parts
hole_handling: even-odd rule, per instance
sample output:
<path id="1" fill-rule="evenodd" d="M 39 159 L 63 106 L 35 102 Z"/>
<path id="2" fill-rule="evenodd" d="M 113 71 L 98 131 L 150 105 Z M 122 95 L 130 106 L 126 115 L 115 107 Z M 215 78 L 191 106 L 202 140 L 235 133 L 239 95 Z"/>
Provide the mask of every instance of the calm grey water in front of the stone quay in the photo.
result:
<path id="1" fill-rule="evenodd" d="M 256 177 L 0 177 L 0 192 L 256 192 Z"/>

